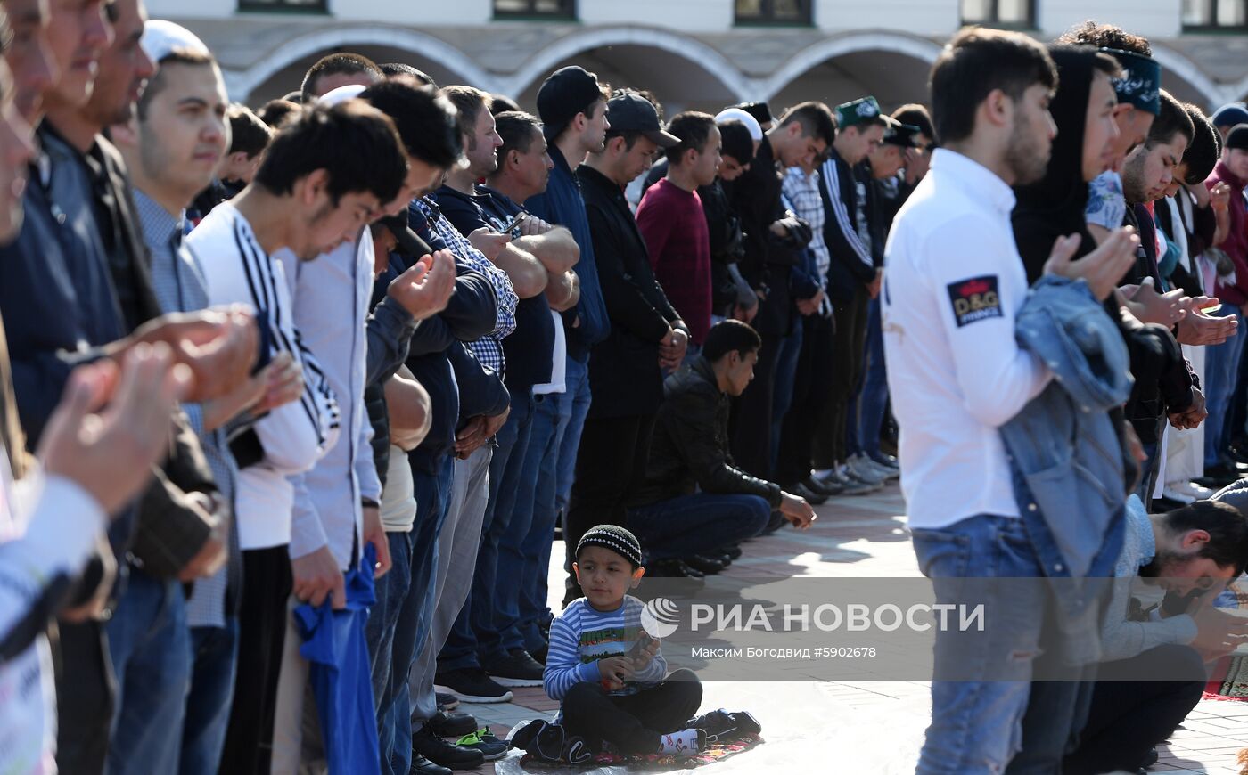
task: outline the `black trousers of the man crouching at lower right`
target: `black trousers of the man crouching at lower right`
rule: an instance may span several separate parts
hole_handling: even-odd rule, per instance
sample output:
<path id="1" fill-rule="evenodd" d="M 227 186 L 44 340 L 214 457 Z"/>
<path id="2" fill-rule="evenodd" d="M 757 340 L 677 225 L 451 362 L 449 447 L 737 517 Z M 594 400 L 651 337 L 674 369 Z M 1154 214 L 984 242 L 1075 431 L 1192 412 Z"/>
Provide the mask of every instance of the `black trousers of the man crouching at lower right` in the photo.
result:
<path id="1" fill-rule="evenodd" d="M 1093 775 L 1143 766 L 1148 751 L 1168 738 L 1201 701 L 1204 665 L 1194 649 L 1166 644 L 1101 665 L 1092 708 L 1078 748 L 1062 761 L 1067 775 Z M 1143 675 L 1173 681 L 1113 680 Z"/>

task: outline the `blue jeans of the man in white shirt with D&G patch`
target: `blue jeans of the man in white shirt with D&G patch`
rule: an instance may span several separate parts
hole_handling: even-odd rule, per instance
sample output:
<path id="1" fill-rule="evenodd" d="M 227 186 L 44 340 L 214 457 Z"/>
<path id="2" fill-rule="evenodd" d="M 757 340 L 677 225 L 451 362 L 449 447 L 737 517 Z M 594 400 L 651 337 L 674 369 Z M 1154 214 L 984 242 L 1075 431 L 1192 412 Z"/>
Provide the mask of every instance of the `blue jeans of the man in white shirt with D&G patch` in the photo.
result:
<path id="1" fill-rule="evenodd" d="M 983 674 L 981 680 L 932 681 L 932 723 L 917 775 L 998 774 L 1020 754 L 1060 763 L 1076 710 L 1070 703 L 1051 704 L 1046 724 L 1053 734 L 1028 740 L 1030 746 L 1050 745 L 1053 750 L 1023 750 L 1023 715 L 1040 654 L 1046 597 L 1038 582 L 1042 568 L 1022 520 L 970 517 L 937 530 L 914 530 L 914 545 L 920 570 L 934 582 L 937 603 L 963 603 L 963 579 L 968 578 L 1037 579 L 1035 585 L 1011 585 L 1010 595 L 985 602 L 990 629 L 936 633 L 938 675 Z M 1035 599 L 1020 599 L 1020 589 Z M 1052 694 L 1041 691 L 1037 699 L 1048 706 Z"/>

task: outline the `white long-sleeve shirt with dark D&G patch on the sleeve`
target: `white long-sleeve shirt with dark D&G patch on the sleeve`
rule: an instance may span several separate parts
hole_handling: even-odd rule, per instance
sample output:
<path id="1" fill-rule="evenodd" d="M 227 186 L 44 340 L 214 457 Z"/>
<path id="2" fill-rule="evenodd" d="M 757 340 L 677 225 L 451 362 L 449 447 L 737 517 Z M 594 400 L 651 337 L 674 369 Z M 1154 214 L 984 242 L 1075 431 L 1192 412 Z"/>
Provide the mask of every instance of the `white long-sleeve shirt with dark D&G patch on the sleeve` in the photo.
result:
<path id="1" fill-rule="evenodd" d="M 1018 515 L 998 429 L 1051 372 L 1015 341 L 1013 205 L 993 172 L 940 149 L 889 236 L 880 297 L 911 528 Z"/>

